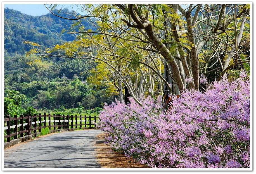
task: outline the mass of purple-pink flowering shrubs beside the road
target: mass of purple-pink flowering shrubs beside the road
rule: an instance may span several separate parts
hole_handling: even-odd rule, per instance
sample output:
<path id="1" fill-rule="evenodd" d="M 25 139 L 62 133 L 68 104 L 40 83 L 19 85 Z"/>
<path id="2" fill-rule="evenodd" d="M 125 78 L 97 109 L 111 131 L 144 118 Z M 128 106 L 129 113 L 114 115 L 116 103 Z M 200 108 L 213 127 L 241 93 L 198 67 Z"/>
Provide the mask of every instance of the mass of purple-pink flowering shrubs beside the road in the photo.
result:
<path id="1" fill-rule="evenodd" d="M 186 90 L 165 111 L 161 97 L 105 106 L 99 127 L 115 151 L 152 168 L 249 168 L 250 80 Z"/>

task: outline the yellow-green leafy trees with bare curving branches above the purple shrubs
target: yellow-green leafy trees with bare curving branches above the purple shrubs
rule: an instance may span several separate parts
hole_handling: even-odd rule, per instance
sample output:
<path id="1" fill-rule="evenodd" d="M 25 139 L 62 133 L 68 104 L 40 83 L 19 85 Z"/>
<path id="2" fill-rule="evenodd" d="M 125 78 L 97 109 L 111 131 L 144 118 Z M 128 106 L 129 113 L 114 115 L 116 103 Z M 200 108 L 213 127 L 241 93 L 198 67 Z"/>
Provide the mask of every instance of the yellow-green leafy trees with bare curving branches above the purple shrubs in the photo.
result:
<path id="1" fill-rule="evenodd" d="M 249 4 L 85 4 L 80 10 L 86 15 L 75 18 L 52 11 L 75 19 L 63 31 L 74 41 L 51 49 L 25 42 L 28 54 L 97 62 L 95 78 L 109 83 L 121 102 L 124 86 L 139 103 L 144 94 L 199 90 L 204 76 L 214 81 L 250 72 Z"/>

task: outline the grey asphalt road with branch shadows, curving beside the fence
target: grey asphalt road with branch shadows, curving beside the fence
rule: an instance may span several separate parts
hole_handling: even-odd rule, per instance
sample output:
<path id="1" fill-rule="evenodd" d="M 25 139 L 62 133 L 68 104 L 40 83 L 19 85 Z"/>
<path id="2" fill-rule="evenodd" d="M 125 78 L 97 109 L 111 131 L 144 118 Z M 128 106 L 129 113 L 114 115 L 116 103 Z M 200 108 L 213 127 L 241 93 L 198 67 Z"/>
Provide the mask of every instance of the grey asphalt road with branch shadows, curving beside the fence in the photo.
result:
<path id="1" fill-rule="evenodd" d="M 4 168 L 101 168 L 94 144 L 99 129 L 49 134 L 4 150 Z"/>

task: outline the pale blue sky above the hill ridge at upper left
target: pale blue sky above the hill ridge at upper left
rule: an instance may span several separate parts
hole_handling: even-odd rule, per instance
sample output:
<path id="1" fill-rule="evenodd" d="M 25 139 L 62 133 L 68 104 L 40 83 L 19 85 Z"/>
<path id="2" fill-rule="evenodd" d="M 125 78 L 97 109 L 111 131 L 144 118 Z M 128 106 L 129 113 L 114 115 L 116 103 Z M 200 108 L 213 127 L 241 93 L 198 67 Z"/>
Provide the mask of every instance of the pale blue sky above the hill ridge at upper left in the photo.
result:
<path id="1" fill-rule="evenodd" d="M 49 11 L 46 9 L 44 4 L 4 4 L 4 8 L 7 8 L 7 7 L 10 9 L 21 11 L 22 13 L 25 13 L 28 15 L 33 15 L 33 16 L 46 15 L 47 13 L 49 13 Z M 61 7 L 72 10 L 71 4 L 65 4 L 65 5 L 60 4 L 58 5 L 57 9 L 60 9 Z"/>

